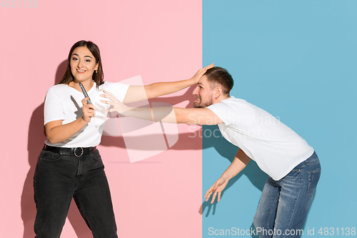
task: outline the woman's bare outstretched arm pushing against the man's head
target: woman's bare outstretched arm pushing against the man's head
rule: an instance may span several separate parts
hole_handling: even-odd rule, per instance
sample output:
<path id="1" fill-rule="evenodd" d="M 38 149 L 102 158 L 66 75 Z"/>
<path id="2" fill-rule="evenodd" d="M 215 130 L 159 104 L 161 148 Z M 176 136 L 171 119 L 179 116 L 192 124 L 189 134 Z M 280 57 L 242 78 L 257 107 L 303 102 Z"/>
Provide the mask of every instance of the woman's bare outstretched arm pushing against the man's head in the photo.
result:
<path id="1" fill-rule="evenodd" d="M 172 94 L 176 91 L 180 91 L 182 89 L 186 89 L 188 86 L 192 86 L 197 84 L 201 79 L 204 73 L 206 73 L 207 69 L 211 69 L 214 64 L 208 65 L 203 69 L 199 69 L 197 73 L 191 78 L 181 81 L 169 81 L 169 82 L 159 82 L 154 84 L 149 84 L 145 86 L 129 86 L 128 91 L 124 97 L 124 104 L 141 101 L 144 99 L 153 99 L 158 96 L 163 96 L 166 94 Z"/>

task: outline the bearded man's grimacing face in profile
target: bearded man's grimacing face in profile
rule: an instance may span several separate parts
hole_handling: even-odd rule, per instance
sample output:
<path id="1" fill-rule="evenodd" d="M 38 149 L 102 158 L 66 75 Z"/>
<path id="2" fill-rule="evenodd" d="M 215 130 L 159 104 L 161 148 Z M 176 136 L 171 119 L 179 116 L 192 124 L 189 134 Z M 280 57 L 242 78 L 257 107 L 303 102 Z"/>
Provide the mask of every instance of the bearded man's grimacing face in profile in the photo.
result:
<path id="1" fill-rule="evenodd" d="M 213 89 L 207 80 L 207 76 L 202 76 L 192 92 L 196 100 L 193 101 L 193 107 L 204 108 L 213 104 Z"/>

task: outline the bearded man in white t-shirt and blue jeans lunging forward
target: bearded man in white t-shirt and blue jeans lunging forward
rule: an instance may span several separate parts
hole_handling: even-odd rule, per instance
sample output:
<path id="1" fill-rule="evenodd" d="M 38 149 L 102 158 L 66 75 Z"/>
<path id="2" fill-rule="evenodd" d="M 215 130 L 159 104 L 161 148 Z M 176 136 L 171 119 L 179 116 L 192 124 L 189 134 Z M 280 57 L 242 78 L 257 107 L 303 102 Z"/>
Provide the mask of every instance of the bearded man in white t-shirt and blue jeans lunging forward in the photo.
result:
<path id="1" fill-rule="evenodd" d="M 259 237 L 300 237 L 301 227 L 311 206 L 321 173 L 313 148 L 263 109 L 229 95 L 233 87 L 231 74 L 221 67 L 208 69 L 198 81 L 193 95 L 193 109 L 129 108 L 114 98 L 103 95 L 124 116 L 170 123 L 214 125 L 223 137 L 239 147 L 226 172 L 208 189 L 206 201 L 211 203 L 229 179 L 241 172 L 253 159 L 269 175 L 253 223 Z"/>

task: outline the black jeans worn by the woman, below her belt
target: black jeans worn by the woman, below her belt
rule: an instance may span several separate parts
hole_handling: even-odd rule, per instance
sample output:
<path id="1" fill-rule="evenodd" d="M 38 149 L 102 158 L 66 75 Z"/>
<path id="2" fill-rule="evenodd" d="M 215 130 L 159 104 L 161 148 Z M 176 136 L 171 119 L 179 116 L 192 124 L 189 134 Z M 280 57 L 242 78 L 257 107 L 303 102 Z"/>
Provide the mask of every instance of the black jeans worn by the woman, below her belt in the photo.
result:
<path id="1" fill-rule="evenodd" d="M 76 157 L 43 149 L 34 174 L 37 238 L 60 237 L 72 197 L 95 238 L 118 237 L 99 151 Z"/>

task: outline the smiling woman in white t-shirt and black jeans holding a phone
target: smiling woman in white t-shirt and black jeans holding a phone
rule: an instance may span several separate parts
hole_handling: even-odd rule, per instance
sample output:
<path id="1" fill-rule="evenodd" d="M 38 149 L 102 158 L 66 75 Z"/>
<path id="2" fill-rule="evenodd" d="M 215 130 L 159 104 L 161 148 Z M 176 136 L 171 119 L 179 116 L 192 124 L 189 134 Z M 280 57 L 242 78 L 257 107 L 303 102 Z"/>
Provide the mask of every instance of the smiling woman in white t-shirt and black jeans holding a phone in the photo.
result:
<path id="1" fill-rule="evenodd" d="M 213 66 L 213 65 L 211 65 Z M 109 185 L 96 145 L 109 105 L 101 103 L 103 89 L 129 103 L 171 94 L 196 84 L 211 66 L 183 81 L 129 86 L 104 82 L 99 47 L 78 41 L 69 51 L 61 81 L 46 94 L 44 124 L 47 140 L 34 175 L 36 237 L 60 237 L 74 198 L 94 237 L 117 237 Z M 79 83 L 89 94 L 84 98 Z"/>

